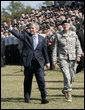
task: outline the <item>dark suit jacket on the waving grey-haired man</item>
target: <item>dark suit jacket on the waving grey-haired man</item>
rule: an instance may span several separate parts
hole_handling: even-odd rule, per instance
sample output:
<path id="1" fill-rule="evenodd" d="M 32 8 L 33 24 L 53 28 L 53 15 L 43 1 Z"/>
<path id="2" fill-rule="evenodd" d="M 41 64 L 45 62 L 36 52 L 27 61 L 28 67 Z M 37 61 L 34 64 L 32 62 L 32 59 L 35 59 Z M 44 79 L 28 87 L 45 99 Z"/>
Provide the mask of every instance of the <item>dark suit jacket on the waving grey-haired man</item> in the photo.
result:
<path id="1" fill-rule="evenodd" d="M 33 40 L 32 35 L 28 32 L 18 33 L 14 29 L 10 30 L 10 32 L 23 41 L 23 50 L 21 54 L 22 64 L 24 66 L 29 66 L 33 56 L 37 59 L 40 66 L 43 67 L 43 55 L 45 58 L 46 63 L 49 63 L 47 48 L 46 48 L 46 40 L 41 35 L 38 35 L 38 45 L 36 49 L 33 49 Z"/>

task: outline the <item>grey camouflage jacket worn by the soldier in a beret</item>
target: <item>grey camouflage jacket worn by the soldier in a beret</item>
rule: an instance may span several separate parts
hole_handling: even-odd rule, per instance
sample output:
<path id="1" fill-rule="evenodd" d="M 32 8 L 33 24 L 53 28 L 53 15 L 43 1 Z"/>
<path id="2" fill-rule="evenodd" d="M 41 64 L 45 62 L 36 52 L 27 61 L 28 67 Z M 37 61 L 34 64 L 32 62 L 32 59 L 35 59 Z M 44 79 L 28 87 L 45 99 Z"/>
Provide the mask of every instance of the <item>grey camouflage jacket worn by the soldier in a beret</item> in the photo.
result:
<path id="1" fill-rule="evenodd" d="M 75 32 L 69 31 L 65 34 L 62 31 L 57 33 L 52 53 L 53 61 L 56 61 L 57 57 L 58 59 L 76 60 L 76 57 L 81 57 L 81 53 L 82 49 Z"/>

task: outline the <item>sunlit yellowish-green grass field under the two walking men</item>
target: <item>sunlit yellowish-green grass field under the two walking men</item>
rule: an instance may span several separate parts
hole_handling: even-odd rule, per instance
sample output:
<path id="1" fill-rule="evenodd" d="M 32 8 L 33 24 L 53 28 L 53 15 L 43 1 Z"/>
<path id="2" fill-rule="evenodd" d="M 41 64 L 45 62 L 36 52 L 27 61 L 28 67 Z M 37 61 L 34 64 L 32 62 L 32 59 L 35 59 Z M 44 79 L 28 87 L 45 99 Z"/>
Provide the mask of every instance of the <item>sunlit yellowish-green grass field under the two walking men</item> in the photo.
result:
<path id="1" fill-rule="evenodd" d="M 23 72 L 20 66 L 1 68 L 1 109 L 84 109 L 84 72 L 76 74 L 72 90 L 72 103 L 65 102 L 62 94 L 63 75 L 59 69 L 49 71 L 45 68 L 45 81 L 48 104 L 41 104 L 41 96 L 33 77 L 30 103 L 24 102 Z"/>

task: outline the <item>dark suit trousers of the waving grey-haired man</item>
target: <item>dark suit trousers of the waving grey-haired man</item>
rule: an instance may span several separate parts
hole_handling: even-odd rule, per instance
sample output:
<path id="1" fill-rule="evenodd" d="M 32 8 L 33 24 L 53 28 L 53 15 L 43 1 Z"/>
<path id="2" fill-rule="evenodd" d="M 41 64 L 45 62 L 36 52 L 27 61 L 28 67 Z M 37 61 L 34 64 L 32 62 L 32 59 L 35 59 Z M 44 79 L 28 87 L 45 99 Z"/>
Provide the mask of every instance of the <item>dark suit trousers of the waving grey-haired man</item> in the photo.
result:
<path id="1" fill-rule="evenodd" d="M 35 74 L 41 98 L 45 98 L 47 92 L 45 90 L 44 68 L 41 68 L 36 59 L 31 61 L 30 66 L 24 67 L 24 97 L 28 100 L 30 99 L 33 74 Z"/>

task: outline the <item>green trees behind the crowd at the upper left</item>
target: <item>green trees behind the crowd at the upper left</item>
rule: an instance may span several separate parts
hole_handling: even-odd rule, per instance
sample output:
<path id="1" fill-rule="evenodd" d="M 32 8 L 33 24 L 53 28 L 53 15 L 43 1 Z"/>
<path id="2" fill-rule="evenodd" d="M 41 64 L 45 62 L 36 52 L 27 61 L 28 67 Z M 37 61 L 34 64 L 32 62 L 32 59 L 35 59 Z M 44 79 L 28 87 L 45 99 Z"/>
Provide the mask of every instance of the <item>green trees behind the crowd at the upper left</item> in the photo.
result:
<path id="1" fill-rule="evenodd" d="M 50 1 L 45 1 L 43 2 L 42 5 L 53 5 L 52 2 Z M 17 18 L 19 19 L 21 16 L 21 13 L 26 13 L 28 12 L 29 14 L 31 13 L 32 7 L 29 6 L 24 6 L 23 3 L 20 1 L 11 1 L 10 4 L 7 6 L 7 8 L 2 8 L 1 10 L 1 23 L 4 21 L 7 21 L 7 18 L 14 19 Z M 41 10 L 41 8 L 38 9 L 38 11 Z"/>

